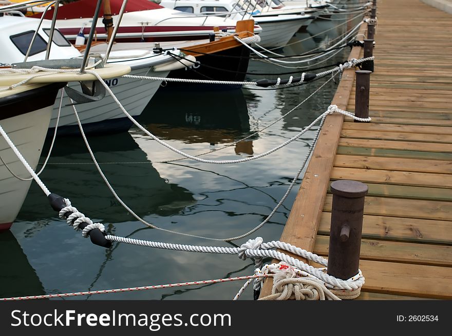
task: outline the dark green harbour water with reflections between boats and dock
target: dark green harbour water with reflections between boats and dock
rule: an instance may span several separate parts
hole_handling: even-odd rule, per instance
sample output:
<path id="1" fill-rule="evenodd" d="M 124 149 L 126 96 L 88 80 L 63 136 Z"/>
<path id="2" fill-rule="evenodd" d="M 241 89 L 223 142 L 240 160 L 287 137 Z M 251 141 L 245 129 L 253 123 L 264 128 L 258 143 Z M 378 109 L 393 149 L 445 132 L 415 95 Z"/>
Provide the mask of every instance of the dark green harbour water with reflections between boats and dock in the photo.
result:
<path id="1" fill-rule="evenodd" d="M 320 28 L 331 27 L 332 23 L 324 23 Z M 300 53 L 324 45 L 344 29 L 342 26 L 315 38 L 310 36 L 317 31 L 298 33 L 292 42 L 307 40 L 286 47 L 283 52 Z M 345 60 L 348 52 L 349 48 L 344 49 L 326 64 Z M 251 72 L 289 70 L 257 61 L 252 61 L 249 67 Z M 248 77 L 250 81 L 256 79 L 253 75 Z M 284 90 L 162 90 L 153 97 L 140 123 L 168 144 L 197 155 L 234 143 L 267 126 L 324 82 Z M 326 110 L 335 89 L 336 84 L 331 81 L 265 132 L 203 157 L 233 160 L 285 142 Z M 180 156 L 136 128 L 120 134 L 90 136 L 89 142 L 117 194 L 146 221 L 179 232 L 229 238 L 257 226 L 275 207 L 303 161 L 315 129 L 271 155 L 233 165 L 192 160 L 159 163 Z M 248 239 L 228 244 L 147 228 L 115 200 L 79 138 L 57 140 L 41 179 L 52 192 L 68 197 L 73 206 L 94 222 L 104 223 L 111 234 L 211 246 L 240 246 Z M 299 182 L 272 220 L 249 238 L 279 239 L 298 187 Z M 92 245 L 58 218 L 34 183 L 11 232 L 1 233 L 0 239 L 2 298 L 219 279 L 250 275 L 254 269 L 252 261 L 242 261 L 236 255 L 117 243 L 111 249 Z M 231 282 L 67 300 L 231 300 L 242 284 Z M 252 300 L 252 295 L 249 288 L 242 300 Z"/>

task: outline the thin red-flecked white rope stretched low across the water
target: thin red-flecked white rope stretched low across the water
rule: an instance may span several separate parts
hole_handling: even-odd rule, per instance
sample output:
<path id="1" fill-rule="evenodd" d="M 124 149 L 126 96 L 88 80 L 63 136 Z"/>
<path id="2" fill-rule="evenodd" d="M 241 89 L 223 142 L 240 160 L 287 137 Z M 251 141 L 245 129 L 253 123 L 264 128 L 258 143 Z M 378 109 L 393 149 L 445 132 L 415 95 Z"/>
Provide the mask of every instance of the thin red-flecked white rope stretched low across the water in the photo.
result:
<path id="1" fill-rule="evenodd" d="M 35 299 L 79 297 L 79 296 L 83 296 L 83 295 L 92 295 L 92 294 L 108 294 L 108 293 L 131 292 L 131 291 L 148 290 L 148 289 L 161 289 L 161 288 L 172 288 L 172 287 L 217 284 L 217 283 L 222 283 L 222 282 L 230 282 L 230 281 L 238 281 L 238 280 L 269 278 L 271 276 L 273 276 L 273 274 L 254 274 L 254 275 L 246 275 L 246 276 L 236 276 L 235 278 L 226 278 L 226 279 L 202 280 L 202 281 L 183 282 L 183 283 L 175 283 L 175 284 L 167 284 L 167 285 L 129 287 L 129 288 L 119 288 L 119 289 L 92 290 L 92 291 L 76 292 L 76 293 L 32 295 L 29 297 L 3 298 L 0 300 L 2 300 L 2 301 L 21 301 L 21 300 L 35 300 Z"/>

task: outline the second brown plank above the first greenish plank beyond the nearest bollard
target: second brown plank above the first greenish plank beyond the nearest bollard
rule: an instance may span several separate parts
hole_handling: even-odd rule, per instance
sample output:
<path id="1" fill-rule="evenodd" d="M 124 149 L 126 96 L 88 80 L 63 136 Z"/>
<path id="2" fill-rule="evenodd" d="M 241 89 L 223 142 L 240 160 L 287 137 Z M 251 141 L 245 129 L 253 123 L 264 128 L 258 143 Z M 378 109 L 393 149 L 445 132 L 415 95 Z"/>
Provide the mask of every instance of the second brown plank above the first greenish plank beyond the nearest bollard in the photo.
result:
<path id="1" fill-rule="evenodd" d="M 341 131 L 341 137 L 452 144 L 452 135 L 443 135 L 443 134 L 428 134 L 428 136 L 426 136 L 425 134 L 422 133 L 398 133 L 398 132 L 379 132 L 379 131 L 361 132 L 356 130 L 343 129 Z"/>

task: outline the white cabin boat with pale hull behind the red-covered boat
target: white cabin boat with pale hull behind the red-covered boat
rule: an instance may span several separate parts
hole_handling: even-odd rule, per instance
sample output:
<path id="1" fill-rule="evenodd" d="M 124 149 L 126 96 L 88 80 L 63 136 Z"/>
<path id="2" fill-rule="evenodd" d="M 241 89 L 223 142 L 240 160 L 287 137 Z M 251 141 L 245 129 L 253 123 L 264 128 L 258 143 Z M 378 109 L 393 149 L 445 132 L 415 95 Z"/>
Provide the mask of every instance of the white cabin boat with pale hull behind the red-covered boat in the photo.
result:
<path id="1" fill-rule="evenodd" d="M 296 14 L 279 12 L 275 15 L 259 15 L 260 11 L 253 11 L 249 4 L 237 0 L 162 0 L 160 4 L 190 15 L 221 15 L 224 19 L 252 18 L 262 27 L 259 46 L 264 48 L 284 47 L 297 31 L 306 28 L 314 19 L 311 15 L 314 10 L 306 10 L 306 14 L 298 11 Z"/>

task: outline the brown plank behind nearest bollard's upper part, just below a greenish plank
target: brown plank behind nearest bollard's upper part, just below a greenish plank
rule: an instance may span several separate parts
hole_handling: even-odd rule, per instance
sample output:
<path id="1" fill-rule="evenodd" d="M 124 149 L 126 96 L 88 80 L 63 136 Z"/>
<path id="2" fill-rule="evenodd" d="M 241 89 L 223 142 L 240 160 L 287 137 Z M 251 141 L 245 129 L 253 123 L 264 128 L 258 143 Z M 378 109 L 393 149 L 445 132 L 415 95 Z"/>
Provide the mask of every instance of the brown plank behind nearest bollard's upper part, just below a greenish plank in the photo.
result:
<path id="1" fill-rule="evenodd" d="M 324 211 L 331 211 L 332 196 L 325 197 Z M 364 213 L 403 218 L 446 221 L 452 213 L 452 203 L 444 201 L 405 200 L 366 196 Z"/>

